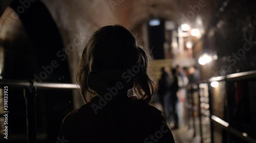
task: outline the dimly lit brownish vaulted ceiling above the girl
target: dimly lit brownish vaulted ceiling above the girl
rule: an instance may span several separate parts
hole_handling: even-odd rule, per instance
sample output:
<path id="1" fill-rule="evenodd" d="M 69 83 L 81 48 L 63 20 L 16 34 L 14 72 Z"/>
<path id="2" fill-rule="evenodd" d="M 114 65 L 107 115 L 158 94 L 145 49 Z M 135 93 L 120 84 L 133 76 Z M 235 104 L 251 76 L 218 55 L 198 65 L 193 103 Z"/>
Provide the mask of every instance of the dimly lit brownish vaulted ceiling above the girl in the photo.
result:
<path id="1" fill-rule="evenodd" d="M 99 27 L 105 25 L 121 24 L 136 34 L 144 22 L 152 17 L 173 20 L 182 23 L 182 14 L 194 13 L 186 21 L 193 25 L 198 16 L 201 17 L 204 27 L 209 19 L 218 10 L 219 2 L 210 0 L 41 0 L 49 9 L 57 27 L 59 28 L 65 47 L 73 42 L 77 35 L 86 37 L 77 45 L 76 52 L 69 55 L 70 66 L 78 63 L 79 53 L 86 45 L 90 36 Z M 199 7 L 204 5 L 203 7 Z M 194 8 L 198 12 L 193 12 Z M 195 11 L 195 10 L 194 10 Z M 15 15 L 12 9 L 7 9 L 0 20 L 0 38 L 4 40 L 8 33 L 15 36 L 14 31 L 19 31 L 20 21 L 14 19 L 6 24 L 6 18 Z M 183 21 L 184 22 L 184 21 Z M 11 26 L 10 26 L 11 25 Z M 19 33 L 19 32 L 18 32 Z M 23 35 L 20 34 L 19 35 Z M 11 35 L 8 35 L 12 37 Z M 73 63 L 73 64 L 72 64 Z M 71 67 L 76 69 L 76 67 Z M 75 75 L 75 71 L 73 75 Z"/>

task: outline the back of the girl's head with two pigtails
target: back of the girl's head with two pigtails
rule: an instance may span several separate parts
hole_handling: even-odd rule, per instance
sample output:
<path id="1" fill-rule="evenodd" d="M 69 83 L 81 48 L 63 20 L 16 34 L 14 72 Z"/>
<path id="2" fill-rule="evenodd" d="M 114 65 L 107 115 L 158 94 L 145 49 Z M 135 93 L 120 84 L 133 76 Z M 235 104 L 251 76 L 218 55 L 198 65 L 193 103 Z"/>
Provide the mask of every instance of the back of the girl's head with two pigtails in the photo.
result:
<path id="1" fill-rule="evenodd" d="M 112 78 L 115 76 L 113 75 L 115 71 L 123 71 L 122 78 L 130 78 L 129 82 L 132 82 L 139 98 L 151 101 L 155 89 L 147 67 L 148 60 L 150 56 L 137 46 L 135 37 L 123 26 L 100 28 L 91 36 L 79 62 L 77 81 L 84 101 L 88 102 L 92 97 L 100 94 L 101 89 L 94 91 L 88 86 L 87 80 L 91 73 L 105 73 L 103 76 L 101 74 L 103 78 L 95 81 L 98 82 L 99 87 L 102 87 L 101 83 L 109 83 L 105 80 L 115 78 Z M 110 71 L 113 71 L 112 75 Z M 102 91 L 104 90 L 103 88 Z"/>

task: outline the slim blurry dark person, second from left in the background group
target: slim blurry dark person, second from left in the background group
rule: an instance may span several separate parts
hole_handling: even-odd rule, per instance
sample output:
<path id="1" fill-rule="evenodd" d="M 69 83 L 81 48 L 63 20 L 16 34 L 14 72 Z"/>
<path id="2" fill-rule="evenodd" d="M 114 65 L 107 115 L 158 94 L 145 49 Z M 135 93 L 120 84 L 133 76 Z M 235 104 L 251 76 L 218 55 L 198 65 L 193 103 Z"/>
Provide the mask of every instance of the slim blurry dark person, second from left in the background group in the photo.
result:
<path id="1" fill-rule="evenodd" d="M 178 77 L 177 77 L 177 71 L 176 69 L 172 69 L 172 75 L 173 75 L 173 83 L 170 86 L 170 101 L 172 101 L 172 108 L 173 108 L 173 117 L 174 117 L 174 127 L 173 129 L 178 129 L 179 128 L 179 120 L 178 120 L 178 115 L 177 115 L 177 102 L 178 102 L 178 97 L 177 97 L 177 92 L 179 90 L 179 85 L 178 85 Z"/>

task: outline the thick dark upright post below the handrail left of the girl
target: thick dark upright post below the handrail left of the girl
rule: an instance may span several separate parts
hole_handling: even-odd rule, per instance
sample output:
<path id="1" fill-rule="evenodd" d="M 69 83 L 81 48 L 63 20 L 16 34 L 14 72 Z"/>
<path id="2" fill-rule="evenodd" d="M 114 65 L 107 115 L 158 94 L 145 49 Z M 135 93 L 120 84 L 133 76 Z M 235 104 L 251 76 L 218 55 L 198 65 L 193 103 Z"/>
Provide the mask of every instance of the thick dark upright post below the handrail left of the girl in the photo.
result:
<path id="1" fill-rule="evenodd" d="M 36 142 L 36 112 L 35 112 L 35 99 L 36 99 L 36 90 L 24 89 L 24 98 L 26 100 L 26 118 L 27 118 L 27 134 L 28 134 L 28 143 Z"/>

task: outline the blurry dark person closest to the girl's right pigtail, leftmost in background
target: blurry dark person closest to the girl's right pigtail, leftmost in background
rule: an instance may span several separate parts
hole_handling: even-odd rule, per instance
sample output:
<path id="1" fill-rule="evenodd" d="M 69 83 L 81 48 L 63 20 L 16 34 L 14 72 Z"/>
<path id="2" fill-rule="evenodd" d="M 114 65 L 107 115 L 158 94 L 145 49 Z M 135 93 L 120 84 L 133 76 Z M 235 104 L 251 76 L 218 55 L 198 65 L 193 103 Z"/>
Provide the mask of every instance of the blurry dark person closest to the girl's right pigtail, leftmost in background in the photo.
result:
<path id="1" fill-rule="evenodd" d="M 158 81 L 158 94 L 163 107 L 164 118 L 168 120 L 170 117 L 170 76 L 165 71 L 165 67 L 161 68 L 161 78 Z"/>

